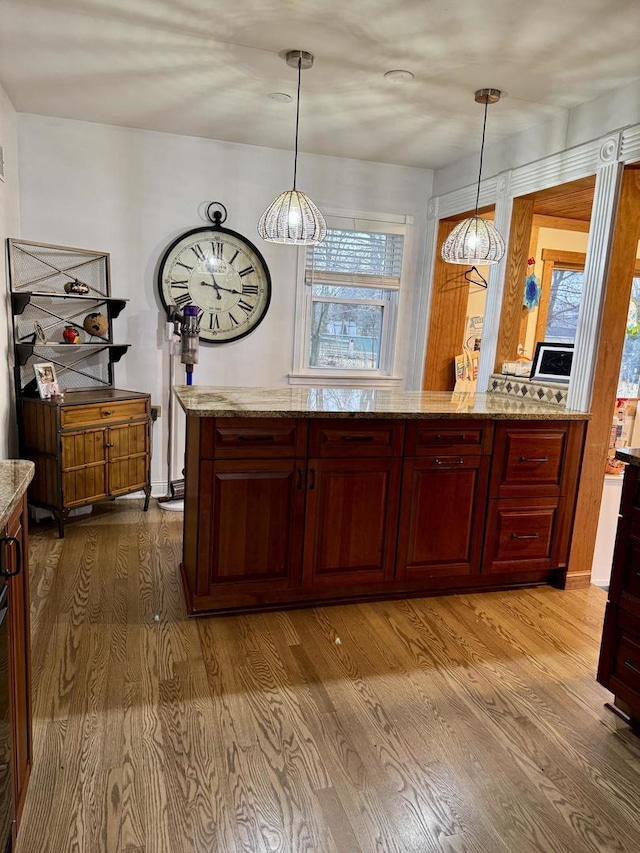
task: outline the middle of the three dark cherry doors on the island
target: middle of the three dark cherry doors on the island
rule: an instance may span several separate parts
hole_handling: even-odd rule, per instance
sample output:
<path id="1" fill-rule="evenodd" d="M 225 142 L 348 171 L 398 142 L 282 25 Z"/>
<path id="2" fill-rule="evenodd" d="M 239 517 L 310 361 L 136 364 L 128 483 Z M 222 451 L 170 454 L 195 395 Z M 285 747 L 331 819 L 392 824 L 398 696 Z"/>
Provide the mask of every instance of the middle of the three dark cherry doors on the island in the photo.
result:
<path id="1" fill-rule="evenodd" d="M 400 459 L 311 459 L 305 586 L 393 579 Z"/>

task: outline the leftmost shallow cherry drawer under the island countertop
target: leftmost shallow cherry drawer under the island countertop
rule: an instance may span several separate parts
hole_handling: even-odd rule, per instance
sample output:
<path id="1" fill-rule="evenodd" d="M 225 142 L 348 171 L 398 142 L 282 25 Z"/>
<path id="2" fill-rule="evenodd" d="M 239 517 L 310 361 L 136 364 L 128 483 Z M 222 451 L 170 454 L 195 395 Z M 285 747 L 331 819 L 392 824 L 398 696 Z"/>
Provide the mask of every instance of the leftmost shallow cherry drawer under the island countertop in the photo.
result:
<path id="1" fill-rule="evenodd" d="M 306 455 L 306 424 L 294 418 L 203 418 L 205 459 L 291 459 Z"/>

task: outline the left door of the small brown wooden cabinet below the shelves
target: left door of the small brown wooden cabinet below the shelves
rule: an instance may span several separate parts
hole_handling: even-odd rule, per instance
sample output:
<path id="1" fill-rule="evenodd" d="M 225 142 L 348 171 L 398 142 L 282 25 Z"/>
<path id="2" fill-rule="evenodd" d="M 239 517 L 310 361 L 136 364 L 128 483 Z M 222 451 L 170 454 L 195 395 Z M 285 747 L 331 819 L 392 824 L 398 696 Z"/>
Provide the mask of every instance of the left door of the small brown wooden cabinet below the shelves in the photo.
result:
<path id="1" fill-rule="evenodd" d="M 62 435 L 64 506 L 79 506 L 106 497 L 105 436 L 104 429 L 82 430 Z"/>

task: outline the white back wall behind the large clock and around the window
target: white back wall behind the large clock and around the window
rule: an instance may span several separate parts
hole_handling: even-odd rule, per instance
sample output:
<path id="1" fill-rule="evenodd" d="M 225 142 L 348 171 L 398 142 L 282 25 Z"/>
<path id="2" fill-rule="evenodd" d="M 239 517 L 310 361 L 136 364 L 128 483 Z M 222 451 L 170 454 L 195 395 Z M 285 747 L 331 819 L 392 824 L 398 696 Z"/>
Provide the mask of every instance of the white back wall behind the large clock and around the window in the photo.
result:
<path id="1" fill-rule="evenodd" d="M 114 337 L 133 346 L 116 365 L 116 385 L 149 392 L 166 407 L 168 359 L 156 266 L 181 232 L 205 225 L 205 202 L 221 201 L 226 226 L 259 246 L 271 271 L 273 294 L 265 320 L 236 343 L 201 347 L 195 381 L 212 385 L 275 386 L 293 366 L 297 250 L 263 243 L 260 214 L 290 186 L 293 156 L 257 146 L 20 115 L 21 236 L 111 253 L 112 293 L 131 301 Z M 412 287 L 403 295 L 400 328 L 411 328 L 421 282 L 426 203 L 433 173 L 355 160 L 301 155 L 299 188 L 323 206 L 410 214 Z M 406 375 L 411 341 L 400 335 L 397 372 Z M 162 439 L 156 429 L 156 448 Z M 164 477 L 156 452 L 152 480 Z"/>

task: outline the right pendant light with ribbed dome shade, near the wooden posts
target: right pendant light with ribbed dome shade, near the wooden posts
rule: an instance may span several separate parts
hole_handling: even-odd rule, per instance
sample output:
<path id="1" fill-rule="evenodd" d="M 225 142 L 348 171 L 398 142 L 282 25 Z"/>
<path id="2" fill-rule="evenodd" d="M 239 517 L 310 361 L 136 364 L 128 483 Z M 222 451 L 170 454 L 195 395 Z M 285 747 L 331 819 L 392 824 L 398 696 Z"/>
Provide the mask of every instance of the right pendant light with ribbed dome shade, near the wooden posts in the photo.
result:
<path id="1" fill-rule="evenodd" d="M 476 103 L 484 104 L 476 210 L 473 216 L 459 222 L 442 244 L 442 260 L 448 264 L 471 264 L 472 266 L 476 264 L 497 264 L 504 255 L 504 240 L 495 225 L 488 219 L 478 216 L 482 158 L 484 156 L 484 136 L 487 127 L 487 107 L 489 104 L 496 104 L 500 100 L 501 94 L 500 89 L 478 89 L 475 94 Z"/>

